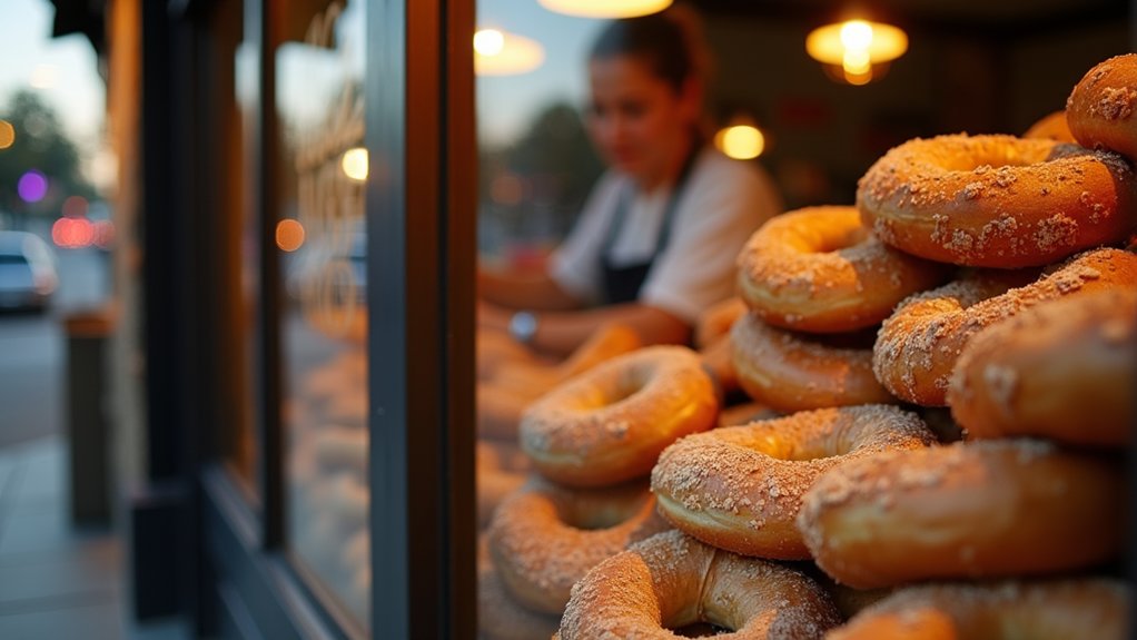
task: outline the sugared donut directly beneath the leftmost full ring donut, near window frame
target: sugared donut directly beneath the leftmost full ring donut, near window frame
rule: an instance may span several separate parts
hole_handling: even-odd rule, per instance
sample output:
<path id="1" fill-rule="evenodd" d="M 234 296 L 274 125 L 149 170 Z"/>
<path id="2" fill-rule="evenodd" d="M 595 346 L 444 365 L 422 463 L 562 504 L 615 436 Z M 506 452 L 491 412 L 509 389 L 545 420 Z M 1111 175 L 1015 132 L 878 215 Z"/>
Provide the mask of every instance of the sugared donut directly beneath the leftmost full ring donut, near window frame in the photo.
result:
<path id="1" fill-rule="evenodd" d="M 567 489 L 534 479 L 498 505 L 487 534 L 513 597 L 559 614 L 588 570 L 665 529 L 645 482 Z"/>

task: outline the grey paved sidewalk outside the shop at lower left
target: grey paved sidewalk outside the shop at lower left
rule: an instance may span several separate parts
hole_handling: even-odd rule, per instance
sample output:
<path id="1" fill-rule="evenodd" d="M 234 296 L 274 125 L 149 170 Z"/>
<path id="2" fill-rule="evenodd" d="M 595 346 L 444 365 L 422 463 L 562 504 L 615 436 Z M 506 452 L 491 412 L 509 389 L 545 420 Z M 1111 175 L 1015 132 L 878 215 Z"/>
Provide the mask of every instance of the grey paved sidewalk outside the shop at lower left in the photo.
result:
<path id="1" fill-rule="evenodd" d="M 0 638 L 189 638 L 181 621 L 134 623 L 119 537 L 72 527 L 66 444 L 51 435 L 0 448 Z"/>

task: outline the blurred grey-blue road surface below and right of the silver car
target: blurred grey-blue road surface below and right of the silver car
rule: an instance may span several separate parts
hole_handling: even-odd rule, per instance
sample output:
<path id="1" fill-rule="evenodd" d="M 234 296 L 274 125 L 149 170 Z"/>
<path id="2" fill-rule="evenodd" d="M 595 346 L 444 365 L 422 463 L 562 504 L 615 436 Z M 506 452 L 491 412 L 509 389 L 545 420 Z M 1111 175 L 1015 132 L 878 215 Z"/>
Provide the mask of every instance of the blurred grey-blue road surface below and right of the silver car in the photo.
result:
<path id="1" fill-rule="evenodd" d="M 110 294 L 110 255 L 57 249 L 59 289 L 44 314 L 0 314 L 0 447 L 66 430 L 68 314 Z"/>

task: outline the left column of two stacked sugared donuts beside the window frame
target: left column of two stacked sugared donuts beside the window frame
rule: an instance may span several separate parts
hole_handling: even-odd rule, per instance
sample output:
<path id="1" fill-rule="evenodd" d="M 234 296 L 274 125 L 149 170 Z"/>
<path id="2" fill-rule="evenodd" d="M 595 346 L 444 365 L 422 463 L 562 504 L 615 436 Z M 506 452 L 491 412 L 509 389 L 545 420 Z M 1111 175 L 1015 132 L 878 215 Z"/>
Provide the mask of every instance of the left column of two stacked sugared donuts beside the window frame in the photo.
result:
<path id="1" fill-rule="evenodd" d="M 529 404 L 518 441 L 531 473 L 497 504 L 484 534 L 482 635 L 548 638 L 578 580 L 667 529 L 647 475 L 678 438 L 713 427 L 719 408 L 711 375 L 686 347 L 619 355 Z"/>

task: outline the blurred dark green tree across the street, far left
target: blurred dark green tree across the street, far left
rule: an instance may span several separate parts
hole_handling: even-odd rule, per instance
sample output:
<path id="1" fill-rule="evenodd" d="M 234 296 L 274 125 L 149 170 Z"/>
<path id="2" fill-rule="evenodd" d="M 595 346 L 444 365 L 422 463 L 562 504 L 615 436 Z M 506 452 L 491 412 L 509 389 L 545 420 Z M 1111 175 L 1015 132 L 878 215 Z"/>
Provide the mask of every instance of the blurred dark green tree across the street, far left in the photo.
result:
<path id="1" fill-rule="evenodd" d="M 97 197 L 80 168 L 78 148 L 67 136 L 56 111 L 36 93 L 13 94 L 0 119 L 8 120 L 16 132 L 13 144 L 0 149 L 0 214 L 13 215 L 15 226 L 23 226 L 28 216 L 59 216 L 64 200 L 70 196 L 88 200 Z M 47 178 L 47 191 L 30 202 L 20 197 L 19 181 L 32 171 Z"/>

